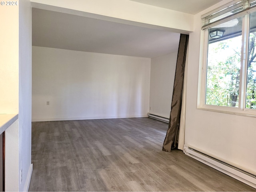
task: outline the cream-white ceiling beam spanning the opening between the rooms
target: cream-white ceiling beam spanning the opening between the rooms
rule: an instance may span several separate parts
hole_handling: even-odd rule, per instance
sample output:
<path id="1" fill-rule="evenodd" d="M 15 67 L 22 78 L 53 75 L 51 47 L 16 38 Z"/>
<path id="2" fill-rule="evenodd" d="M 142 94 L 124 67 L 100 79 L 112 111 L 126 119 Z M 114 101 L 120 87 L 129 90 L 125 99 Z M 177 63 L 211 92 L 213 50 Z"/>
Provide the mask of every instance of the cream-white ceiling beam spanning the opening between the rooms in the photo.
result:
<path id="1" fill-rule="evenodd" d="M 189 34 L 194 15 L 130 0 L 30 0 L 32 7 L 122 24 Z"/>

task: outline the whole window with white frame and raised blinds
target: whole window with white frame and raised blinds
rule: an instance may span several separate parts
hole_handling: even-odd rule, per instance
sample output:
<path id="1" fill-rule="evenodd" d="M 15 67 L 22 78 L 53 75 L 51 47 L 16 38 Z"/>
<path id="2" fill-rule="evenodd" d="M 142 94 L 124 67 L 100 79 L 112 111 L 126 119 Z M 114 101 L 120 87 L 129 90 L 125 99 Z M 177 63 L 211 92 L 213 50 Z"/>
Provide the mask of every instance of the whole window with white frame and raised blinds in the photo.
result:
<path id="1" fill-rule="evenodd" d="M 232 1 L 202 21 L 200 108 L 256 115 L 256 2 Z"/>

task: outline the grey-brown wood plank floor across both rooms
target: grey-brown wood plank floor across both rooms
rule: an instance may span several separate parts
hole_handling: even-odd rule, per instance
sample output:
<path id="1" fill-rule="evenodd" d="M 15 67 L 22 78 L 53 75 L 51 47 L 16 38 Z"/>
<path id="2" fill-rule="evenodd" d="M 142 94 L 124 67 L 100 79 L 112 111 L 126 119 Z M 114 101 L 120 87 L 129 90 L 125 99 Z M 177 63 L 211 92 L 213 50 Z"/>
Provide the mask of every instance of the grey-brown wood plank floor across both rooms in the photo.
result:
<path id="1" fill-rule="evenodd" d="M 32 123 L 29 191 L 256 191 L 181 150 L 150 118 Z"/>

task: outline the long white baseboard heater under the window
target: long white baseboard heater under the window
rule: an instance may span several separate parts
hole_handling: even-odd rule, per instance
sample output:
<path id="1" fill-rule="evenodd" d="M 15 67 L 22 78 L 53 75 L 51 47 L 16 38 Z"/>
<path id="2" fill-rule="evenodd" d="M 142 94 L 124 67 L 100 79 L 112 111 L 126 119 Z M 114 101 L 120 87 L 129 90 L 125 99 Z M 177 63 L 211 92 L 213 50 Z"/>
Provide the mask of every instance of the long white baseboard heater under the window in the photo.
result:
<path id="1" fill-rule="evenodd" d="M 183 152 L 186 155 L 188 155 L 188 156 L 190 156 L 190 157 L 192 157 L 192 158 L 194 158 L 194 159 L 196 159 L 196 160 L 198 160 L 216 170 L 219 170 L 220 172 L 223 172 L 224 174 L 227 174 L 227 175 L 229 175 L 229 176 L 231 176 L 249 186 L 252 186 L 253 188 L 256 188 L 256 176 L 253 174 L 250 174 L 244 170 L 236 168 L 236 167 L 229 165 L 225 162 L 222 162 L 216 158 L 213 158 L 211 156 L 203 154 L 203 153 L 201 153 L 197 150 L 194 150 L 186 145 L 184 145 Z"/>

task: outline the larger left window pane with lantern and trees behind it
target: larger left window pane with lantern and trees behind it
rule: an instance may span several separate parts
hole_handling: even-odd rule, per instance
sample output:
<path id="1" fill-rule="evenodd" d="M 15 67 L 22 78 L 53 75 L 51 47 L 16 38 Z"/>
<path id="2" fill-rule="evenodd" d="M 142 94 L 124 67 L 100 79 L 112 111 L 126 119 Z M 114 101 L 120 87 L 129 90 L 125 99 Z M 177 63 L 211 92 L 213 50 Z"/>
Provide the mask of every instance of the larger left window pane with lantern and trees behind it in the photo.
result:
<path id="1" fill-rule="evenodd" d="M 238 107 L 241 46 L 242 18 L 209 30 L 206 104 Z"/>

